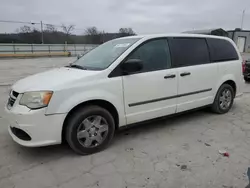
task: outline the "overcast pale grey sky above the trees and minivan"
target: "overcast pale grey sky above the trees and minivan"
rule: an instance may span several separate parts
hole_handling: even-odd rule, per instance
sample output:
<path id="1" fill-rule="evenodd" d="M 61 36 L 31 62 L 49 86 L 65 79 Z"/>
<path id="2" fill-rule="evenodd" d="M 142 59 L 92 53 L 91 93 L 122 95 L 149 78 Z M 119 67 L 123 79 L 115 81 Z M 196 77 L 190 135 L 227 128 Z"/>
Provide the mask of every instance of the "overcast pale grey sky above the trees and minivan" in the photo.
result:
<path id="1" fill-rule="evenodd" d="M 250 30 L 250 0 L 0 0 L 0 20 L 73 24 L 74 33 L 96 26 L 116 32 L 132 27 L 138 34 L 240 27 Z M 23 24 L 0 23 L 0 32 Z"/>

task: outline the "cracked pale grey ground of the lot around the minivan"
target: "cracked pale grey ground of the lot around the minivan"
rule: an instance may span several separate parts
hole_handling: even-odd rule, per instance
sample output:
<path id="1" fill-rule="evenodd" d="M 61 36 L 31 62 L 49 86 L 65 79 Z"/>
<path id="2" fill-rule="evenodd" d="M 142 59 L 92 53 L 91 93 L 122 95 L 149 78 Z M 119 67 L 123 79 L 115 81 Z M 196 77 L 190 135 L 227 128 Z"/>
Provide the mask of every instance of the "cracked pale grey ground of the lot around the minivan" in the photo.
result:
<path id="1" fill-rule="evenodd" d="M 24 148 L 7 133 L 9 85 L 75 58 L 0 60 L 0 188 L 246 187 L 250 84 L 225 115 L 206 110 L 120 131 L 105 151 L 78 156 L 67 145 Z M 226 150 L 223 157 L 218 150 Z"/>

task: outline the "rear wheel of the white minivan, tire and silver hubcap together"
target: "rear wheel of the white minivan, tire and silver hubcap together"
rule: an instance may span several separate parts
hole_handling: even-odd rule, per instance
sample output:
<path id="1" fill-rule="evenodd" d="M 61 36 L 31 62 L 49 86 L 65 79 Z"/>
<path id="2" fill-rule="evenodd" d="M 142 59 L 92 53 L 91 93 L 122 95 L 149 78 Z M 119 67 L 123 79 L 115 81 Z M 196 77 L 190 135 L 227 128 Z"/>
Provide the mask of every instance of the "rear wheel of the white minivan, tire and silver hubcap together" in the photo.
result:
<path id="1" fill-rule="evenodd" d="M 232 86 L 228 84 L 223 84 L 214 99 L 214 103 L 212 104 L 212 111 L 218 114 L 227 113 L 234 102 L 234 90 Z"/>

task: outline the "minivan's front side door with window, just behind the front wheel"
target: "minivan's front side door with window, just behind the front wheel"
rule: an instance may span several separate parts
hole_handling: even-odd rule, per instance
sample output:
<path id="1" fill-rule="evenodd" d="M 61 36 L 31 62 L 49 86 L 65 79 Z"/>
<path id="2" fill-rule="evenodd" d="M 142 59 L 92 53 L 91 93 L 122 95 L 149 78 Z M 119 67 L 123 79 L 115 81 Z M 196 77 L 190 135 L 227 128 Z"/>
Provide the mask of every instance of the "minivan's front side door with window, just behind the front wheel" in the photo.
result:
<path id="1" fill-rule="evenodd" d="M 142 71 L 123 76 L 127 124 L 176 112 L 177 75 L 166 39 L 147 41 L 128 59 L 143 61 Z"/>

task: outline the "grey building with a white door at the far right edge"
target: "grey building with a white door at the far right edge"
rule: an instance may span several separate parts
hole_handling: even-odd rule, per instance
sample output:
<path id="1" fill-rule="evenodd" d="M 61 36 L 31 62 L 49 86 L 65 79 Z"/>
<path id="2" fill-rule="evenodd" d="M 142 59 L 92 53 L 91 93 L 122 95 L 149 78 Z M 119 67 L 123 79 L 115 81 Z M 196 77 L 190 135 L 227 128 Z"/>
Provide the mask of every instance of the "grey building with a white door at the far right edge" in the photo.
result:
<path id="1" fill-rule="evenodd" d="M 236 43 L 240 52 L 250 53 L 250 30 L 236 28 L 227 32 L 228 37 Z"/>

